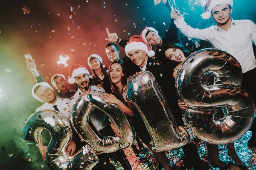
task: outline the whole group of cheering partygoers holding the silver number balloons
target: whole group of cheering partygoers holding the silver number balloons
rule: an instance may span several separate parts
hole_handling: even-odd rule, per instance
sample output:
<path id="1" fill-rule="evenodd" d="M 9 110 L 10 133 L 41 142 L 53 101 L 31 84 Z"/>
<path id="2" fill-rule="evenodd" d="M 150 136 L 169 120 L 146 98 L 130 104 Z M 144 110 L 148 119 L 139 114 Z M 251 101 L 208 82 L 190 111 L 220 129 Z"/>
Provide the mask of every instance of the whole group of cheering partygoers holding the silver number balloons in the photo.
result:
<path id="1" fill-rule="evenodd" d="M 70 119 L 73 105 L 81 94 L 89 91 L 105 92 L 102 99 L 117 105 L 126 116 L 131 118 L 131 124 L 135 127 L 136 140 L 140 149 L 144 148 L 144 143 L 154 154 L 157 167 L 163 166 L 166 170 L 171 170 L 172 167 L 169 165 L 166 153 L 152 150 L 149 145 L 151 137 L 142 118 L 134 105 L 128 102 L 124 96 L 124 91 L 127 88 L 127 77 L 140 71 L 150 71 L 154 74 L 174 114 L 179 130 L 189 137 L 182 120 L 182 110 L 185 110 L 188 106 L 177 99 L 175 77 L 179 65 L 186 60 L 191 52 L 180 44 L 177 35 L 178 29 L 187 37 L 209 41 L 212 47 L 222 49 L 233 55 L 240 62 L 243 71 L 242 87 L 256 101 L 256 91 L 253 89 L 253 83 L 251 82 L 251 77 L 256 74 L 256 59 L 252 48 L 252 42 L 256 42 L 256 25 L 250 20 L 233 20 L 230 17 L 233 11 L 233 0 L 208 0 L 205 13 L 202 16 L 204 18 L 212 16 L 216 25 L 202 30 L 190 27 L 179 10 L 171 9 L 166 0 L 162 2 L 170 9 L 172 17 L 169 31 L 167 31 L 165 37 L 160 37 L 158 31 L 154 28 L 146 27 L 140 36 L 131 36 L 129 40 L 122 40 L 116 33 L 109 33 L 107 28 L 108 38 L 105 40 L 110 42 L 105 45 L 105 52 L 112 62 L 111 65 L 105 68 L 102 57 L 97 54 L 90 55 L 87 63 L 91 69 L 91 75 L 84 65 L 75 64 L 70 68 L 67 81 L 62 74 L 52 76 L 52 85 L 58 91 L 54 91 L 49 84 L 44 82 L 41 74 L 36 69 L 35 60 L 27 60 L 27 63 L 28 69 L 32 71 L 37 81 L 37 84 L 32 88 L 32 95 L 35 99 L 45 102 L 36 111 L 51 109 L 63 113 L 64 116 Z M 123 59 L 120 58 L 118 45 L 125 49 L 126 56 Z M 156 49 L 154 51 L 152 45 L 155 45 Z M 77 91 L 67 88 L 67 82 L 70 84 L 76 83 Z M 92 114 L 90 119 L 96 130 L 103 136 L 117 135 L 122 137 L 106 115 Z M 252 137 L 248 142 L 248 147 L 256 146 L 255 126 L 254 121 L 250 128 Z M 66 148 L 66 152 L 67 154 L 73 154 L 82 146 L 83 143 L 79 140 L 79 137 L 74 135 Z M 136 146 L 133 145 L 132 147 L 134 153 L 138 154 L 139 151 Z M 47 146 L 41 143 L 38 148 L 45 160 Z M 237 156 L 234 144 L 227 144 L 227 148 L 229 156 L 235 161 L 236 165 L 242 170 L 246 170 L 246 164 Z M 195 170 L 204 169 L 197 148 L 193 143 L 184 145 L 182 149 L 187 167 L 194 167 Z M 229 166 L 229 164 L 219 159 L 218 145 L 207 144 L 207 149 L 213 167 L 226 168 Z M 119 161 L 125 170 L 131 169 L 131 164 L 123 150 L 111 154 L 97 152 L 96 154 L 99 157 L 99 163 L 93 169 L 115 169 L 109 161 L 110 157 Z"/>

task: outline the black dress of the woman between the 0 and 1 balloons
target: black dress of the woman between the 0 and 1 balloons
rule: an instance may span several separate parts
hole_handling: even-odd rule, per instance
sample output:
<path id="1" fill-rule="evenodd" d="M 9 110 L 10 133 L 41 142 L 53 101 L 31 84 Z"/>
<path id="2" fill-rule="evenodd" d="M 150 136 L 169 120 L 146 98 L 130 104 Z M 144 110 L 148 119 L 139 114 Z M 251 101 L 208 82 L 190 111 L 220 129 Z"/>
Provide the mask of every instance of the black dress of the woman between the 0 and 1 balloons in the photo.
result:
<path id="1" fill-rule="evenodd" d="M 123 88 L 125 87 L 125 85 L 123 85 L 122 87 L 122 91 L 119 97 L 119 100 L 125 104 L 126 106 L 128 106 L 127 102 L 125 102 L 125 99 L 123 98 Z M 137 112 L 137 110 L 135 111 L 134 116 L 129 116 L 130 120 L 132 122 L 132 125 L 135 128 L 135 131 L 137 133 L 137 135 L 140 137 L 141 141 L 145 144 L 149 144 L 149 142 L 152 140 L 150 137 L 150 134 L 148 133 L 148 130 L 143 122 L 143 119 L 140 116 L 140 113 Z"/>

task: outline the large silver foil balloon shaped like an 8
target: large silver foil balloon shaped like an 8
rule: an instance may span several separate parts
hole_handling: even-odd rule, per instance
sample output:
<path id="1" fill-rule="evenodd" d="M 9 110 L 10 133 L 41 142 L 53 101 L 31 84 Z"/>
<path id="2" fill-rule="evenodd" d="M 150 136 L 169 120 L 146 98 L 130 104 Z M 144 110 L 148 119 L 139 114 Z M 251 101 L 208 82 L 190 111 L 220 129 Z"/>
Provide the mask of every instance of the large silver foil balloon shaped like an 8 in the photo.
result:
<path id="1" fill-rule="evenodd" d="M 180 66 L 176 88 L 189 105 L 186 121 L 199 139 L 227 144 L 239 139 L 255 116 L 252 97 L 241 88 L 239 62 L 225 51 L 196 51 Z"/>

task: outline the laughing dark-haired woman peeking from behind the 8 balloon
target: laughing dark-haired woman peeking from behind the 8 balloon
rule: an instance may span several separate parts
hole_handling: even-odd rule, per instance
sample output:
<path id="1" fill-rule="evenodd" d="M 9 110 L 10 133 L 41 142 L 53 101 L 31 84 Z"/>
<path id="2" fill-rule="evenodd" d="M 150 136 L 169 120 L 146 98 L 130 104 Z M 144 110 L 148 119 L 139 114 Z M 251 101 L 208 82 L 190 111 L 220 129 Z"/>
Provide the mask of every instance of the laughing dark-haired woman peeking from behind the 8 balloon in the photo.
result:
<path id="1" fill-rule="evenodd" d="M 166 44 L 162 47 L 161 52 L 164 54 L 162 56 L 165 56 L 166 60 L 169 62 L 169 64 L 173 68 L 173 77 L 176 77 L 178 68 L 180 64 L 183 63 L 183 61 L 186 60 L 186 58 L 190 55 L 189 51 L 184 49 L 182 45 L 180 44 Z M 179 100 L 179 106 L 180 109 L 185 110 L 188 108 L 188 106 L 180 102 Z M 218 156 L 218 145 L 217 144 L 207 144 L 207 149 L 209 150 L 210 156 L 212 158 L 211 165 L 213 167 L 220 167 L 220 168 L 226 168 L 228 164 L 225 164 L 223 161 L 219 159 Z M 241 169 L 241 170 L 247 170 L 246 165 L 244 164 L 241 159 L 236 155 L 236 150 L 234 147 L 234 143 L 227 144 L 227 149 L 229 156 L 236 162 L 236 165 Z"/>

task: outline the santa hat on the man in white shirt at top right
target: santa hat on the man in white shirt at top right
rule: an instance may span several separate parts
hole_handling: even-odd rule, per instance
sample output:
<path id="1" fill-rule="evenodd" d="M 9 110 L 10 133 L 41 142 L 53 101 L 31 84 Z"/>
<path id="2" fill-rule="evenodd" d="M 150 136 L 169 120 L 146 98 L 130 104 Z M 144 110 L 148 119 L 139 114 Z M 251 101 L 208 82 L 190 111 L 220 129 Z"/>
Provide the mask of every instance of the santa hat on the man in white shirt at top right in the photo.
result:
<path id="1" fill-rule="evenodd" d="M 212 15 L 212 9 L 215 6 L 218 6 L 220 4 L 226 3 L 233 7 L 233 0 L 208 0 L 206 6 L 205 6 L 205 12 L 201 15 L 204 20 L 207 20 Z"/>

